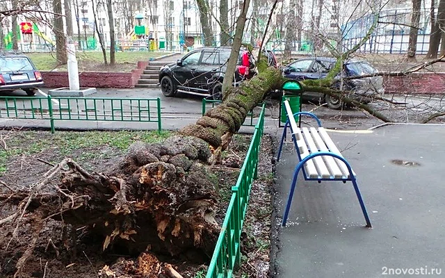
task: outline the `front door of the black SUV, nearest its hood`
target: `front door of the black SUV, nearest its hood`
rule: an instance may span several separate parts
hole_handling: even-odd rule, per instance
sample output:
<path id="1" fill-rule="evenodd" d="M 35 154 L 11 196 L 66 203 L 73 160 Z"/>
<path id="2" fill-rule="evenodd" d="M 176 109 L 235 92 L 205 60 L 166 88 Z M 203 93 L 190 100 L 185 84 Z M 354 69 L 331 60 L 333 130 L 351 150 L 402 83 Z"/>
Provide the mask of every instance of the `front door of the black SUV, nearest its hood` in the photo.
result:
<path id="1" fill-rule="evenodd" d="M 195 50 L 181 59 L 181 63 L 173 72 L 173 78 L 179 83 L 179 88 L 189 90 L 196 86 L 195 71 L 200 64 L 201 56 L 202 50 Z"/>

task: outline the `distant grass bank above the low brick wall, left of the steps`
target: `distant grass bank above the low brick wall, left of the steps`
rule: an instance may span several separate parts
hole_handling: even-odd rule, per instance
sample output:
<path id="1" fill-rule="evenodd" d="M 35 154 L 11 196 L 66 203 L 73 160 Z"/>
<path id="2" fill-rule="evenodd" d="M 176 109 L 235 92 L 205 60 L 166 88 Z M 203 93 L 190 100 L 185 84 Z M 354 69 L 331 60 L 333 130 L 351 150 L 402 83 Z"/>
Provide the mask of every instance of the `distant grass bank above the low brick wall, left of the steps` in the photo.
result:
<path id="1" fill-rule="evenodd" d="M 58 65 L 56 60 L 56 52 L 49 53 L 31 53 L 27 54 L 38 70 L 49 71 L 59 70 L 66 71 L 67 65 Z M 77 62 L 79 63 L 79 72 L 95 71 L 95 72 L 129 72 L 136 68 L 136 63 L 141 60 L 149 60 L 165 55 L 165 52 L 152 51 L 118 51 L 116 52 L 116 65 L 111 67 L 104 64 L 102 51 L 85 51 L 76 52 Z M 107 52 L 107 60 L 110 56 Z"/>

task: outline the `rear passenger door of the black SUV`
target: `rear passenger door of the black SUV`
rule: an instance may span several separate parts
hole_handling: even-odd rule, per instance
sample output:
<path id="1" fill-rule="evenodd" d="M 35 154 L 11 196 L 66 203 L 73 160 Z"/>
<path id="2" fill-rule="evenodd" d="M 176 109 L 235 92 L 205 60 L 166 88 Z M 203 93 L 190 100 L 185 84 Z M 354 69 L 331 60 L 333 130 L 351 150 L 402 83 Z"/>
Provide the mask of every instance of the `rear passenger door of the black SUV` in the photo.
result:
<path id="1" fill-rule="evenodd" d="M 198 89 L 209 90 L 209 82 L 211 82 L 213 74 L 220 69 L 218 49 L 209 49 L 202 52 L 202 59 L 196 71 L 196 85 Z"/>

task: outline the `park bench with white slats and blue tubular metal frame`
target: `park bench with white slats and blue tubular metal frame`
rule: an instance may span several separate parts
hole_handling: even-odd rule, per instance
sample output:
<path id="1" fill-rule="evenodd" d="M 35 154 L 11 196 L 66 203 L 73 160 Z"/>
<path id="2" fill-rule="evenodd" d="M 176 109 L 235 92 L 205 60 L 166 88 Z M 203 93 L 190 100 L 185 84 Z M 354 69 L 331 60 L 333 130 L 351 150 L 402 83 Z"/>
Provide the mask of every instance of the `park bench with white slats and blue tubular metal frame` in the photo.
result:
<path id="1" fill-rule="evenodd" d="M 300 170 L 303 172 L 303 176 L 307 181 L 352 181 L 359 200 L 360 207 L 364 218 L 366 220 L 366 227 L 371 227 L 371 222 L 366 213 L 366 207 L 360 194 L 360 190 L 357 186 L 357 179 L 355 172 L 348 161 L 341 155 L 339 149 L 334 144 L 326 130 L 321 126 L 321 122 L 316 115 L 308 112 L 293 113 L 289 101 L 284 101 L 284 107 L 286 108 L 287 121 L 284 125 L 284 130 L 280 142 L 280 149 L 278 150 L 277 161 L 280 161 L 284 140 L 286 139 L 287 129 L 291 129 L 293 145 L 296 148 L 298 154 L 299 163 L 296 165 L 293 171 L 293 180 L 291 183 L 291 190 L 289 193 L 289 199 L 286 204 L 286 211 L 282 220 L 282 226 L 286 226 L 286 220 L 291 208 L 291 202 L 293 198 L 293 192 L 296 188 L 296 182 L 298 173 Z M 300 127 L 297 125 L 295 116 L 307 115 L 313 117 L 318 127 Z"/>

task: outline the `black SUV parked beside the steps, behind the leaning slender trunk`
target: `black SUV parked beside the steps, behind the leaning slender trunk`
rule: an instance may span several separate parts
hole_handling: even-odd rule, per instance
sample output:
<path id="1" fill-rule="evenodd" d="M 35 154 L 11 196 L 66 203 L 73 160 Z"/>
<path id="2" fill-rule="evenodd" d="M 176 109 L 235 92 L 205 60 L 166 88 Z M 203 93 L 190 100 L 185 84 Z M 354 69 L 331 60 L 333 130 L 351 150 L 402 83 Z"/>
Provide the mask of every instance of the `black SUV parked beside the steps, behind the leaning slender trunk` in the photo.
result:
<path id="1" fill-rule="evenodd" d="M 230 47 L 203 47 L 195 49 L 177 60 L 165 65 L 159 71 L 159 83 L 166 97 L 177 92 L 221 99 L 221 88 Z M 234 76 L 234 85 L 250 79 L 256 73 L 254 59 L 247 49 L 240 49 Z"/>

